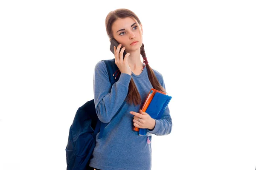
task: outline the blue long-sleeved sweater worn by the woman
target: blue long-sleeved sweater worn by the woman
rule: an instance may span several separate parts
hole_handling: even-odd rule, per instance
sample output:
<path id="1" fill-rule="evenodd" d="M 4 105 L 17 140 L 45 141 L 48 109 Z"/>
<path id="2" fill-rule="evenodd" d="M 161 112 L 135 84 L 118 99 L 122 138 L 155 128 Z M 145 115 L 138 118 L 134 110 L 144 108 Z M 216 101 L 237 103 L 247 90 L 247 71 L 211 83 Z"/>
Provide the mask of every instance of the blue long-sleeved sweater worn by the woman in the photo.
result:
<path id="1" fill-rule="evenodd" d="M 160 84 L 165 88 L 162 75 L 153 70 Z M 128 86 L 131 80 L 137 86 L 140 93 L 141 105 L 122 106 L 128 94 Z M 104 135 L 98 139 L 90 166 L 101 170 L 151 170 L 151 144 L 147 144 L 147 136 L 139 136 L 133 130 L 133 117 L 130 111 L 139 112 L 150 89 L 153 88 L 146 67 L 140 75 L 120 74 L 119 80 L 113 84 L 109 82 L 108 71 L 105 62 L 99 61 L 94 71 L 94 102 L 96 113 L 102 122 L 108 123 Z M 122 109 L 116 113 L 119 108 Z M 116 113 L 116 114 L 115 114 Z M 155 135 L 167 135 L 172 130 L 172 119 L 168 106 L 161 119 L 156 120 L 153 130 L 148 132 Z M 149 136 L 151 141 L 151 136 Z"/>

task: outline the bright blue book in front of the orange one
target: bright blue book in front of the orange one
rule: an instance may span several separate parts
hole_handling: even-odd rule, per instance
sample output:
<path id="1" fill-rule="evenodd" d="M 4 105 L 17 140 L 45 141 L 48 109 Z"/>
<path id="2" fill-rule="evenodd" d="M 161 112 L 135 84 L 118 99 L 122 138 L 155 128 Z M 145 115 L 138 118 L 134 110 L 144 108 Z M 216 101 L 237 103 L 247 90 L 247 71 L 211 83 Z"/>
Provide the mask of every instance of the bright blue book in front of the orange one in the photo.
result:
<path id="1" fill-rule="evenodd" d="M 171 99 L 171 96 L 156 92 L 145 112 L 148 113 L 153 119 L 161 119 L 161 116 L 163 115 L 163 112 L 165 111 Z M 139 135 L 151 136 L 152 134 L 149 133 L 147 129 L 140 129 Z"/>

